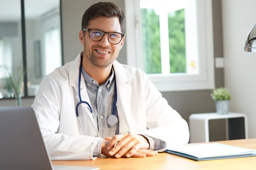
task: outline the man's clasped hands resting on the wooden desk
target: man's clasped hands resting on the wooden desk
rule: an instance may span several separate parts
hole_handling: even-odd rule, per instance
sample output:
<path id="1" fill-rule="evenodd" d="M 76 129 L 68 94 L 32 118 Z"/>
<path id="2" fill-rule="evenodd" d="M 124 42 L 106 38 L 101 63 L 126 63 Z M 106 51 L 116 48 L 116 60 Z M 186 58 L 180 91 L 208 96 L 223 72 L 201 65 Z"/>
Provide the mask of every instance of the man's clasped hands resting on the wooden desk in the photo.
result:
<path id="1" fill-rule="evenodd" d="M 117 142 L 116 146 L 114 144 Z M 141 135 L 123 133 L 113 138 L 106 137 L 102 142 L 102 154 L 109 157 L 137 157 L 155 156 L 157 151 L 148 150 L 148 141 Z"/>

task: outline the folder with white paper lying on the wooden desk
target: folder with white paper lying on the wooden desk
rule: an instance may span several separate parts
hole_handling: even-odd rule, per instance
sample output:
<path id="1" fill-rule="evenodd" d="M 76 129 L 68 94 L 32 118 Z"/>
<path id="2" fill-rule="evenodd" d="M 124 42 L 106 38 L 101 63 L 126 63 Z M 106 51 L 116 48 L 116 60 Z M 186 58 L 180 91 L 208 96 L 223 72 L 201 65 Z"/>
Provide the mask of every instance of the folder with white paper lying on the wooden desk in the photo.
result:
<path id="1" fill-rule="evenodd" d="M 256 150 L 220 143 L 190 144 L 169 148 L 165 152 L 196 161 L 256 156 Z"/>

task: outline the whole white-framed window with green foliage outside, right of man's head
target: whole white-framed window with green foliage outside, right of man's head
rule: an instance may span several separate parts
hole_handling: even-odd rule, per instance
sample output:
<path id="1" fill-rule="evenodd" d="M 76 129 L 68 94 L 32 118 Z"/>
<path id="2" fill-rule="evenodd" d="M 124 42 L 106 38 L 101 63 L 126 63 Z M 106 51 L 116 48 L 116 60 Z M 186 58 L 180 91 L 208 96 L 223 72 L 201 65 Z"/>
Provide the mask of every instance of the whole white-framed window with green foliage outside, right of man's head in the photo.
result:
<path id="1" fill-rule="evenodd" d="M 128 65 L 159 91 L 214 88 L 211 3 L 126 0 Z"/>

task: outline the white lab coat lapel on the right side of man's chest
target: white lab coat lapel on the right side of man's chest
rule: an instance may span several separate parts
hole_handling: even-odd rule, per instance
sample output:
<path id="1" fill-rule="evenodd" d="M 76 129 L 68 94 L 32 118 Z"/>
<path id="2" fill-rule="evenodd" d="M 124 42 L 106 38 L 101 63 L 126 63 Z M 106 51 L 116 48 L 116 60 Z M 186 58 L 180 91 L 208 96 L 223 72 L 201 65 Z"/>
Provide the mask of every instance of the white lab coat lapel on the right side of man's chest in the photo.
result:
<path id="1" fill-rule="evenodd" d="M 131 92 L 132 88 L 126 84 L 131 79 L 131 74 L 116 60 L 113 62 L 116 76 L 117 102 L 120 133 L 133 133 L 134 123 L 131 117 Z"/>

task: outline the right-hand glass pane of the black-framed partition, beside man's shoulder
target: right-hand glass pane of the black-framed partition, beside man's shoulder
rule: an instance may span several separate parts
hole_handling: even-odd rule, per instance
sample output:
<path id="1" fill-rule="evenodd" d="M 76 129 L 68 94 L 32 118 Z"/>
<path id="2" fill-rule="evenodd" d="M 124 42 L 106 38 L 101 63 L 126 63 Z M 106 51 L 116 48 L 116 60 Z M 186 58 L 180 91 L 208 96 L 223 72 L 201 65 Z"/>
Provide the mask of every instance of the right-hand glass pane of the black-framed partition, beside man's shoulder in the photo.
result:
<path id="1" fill-rule="evenodd" d="M 28 96 L 43 77 L 62 65 L 59 0 L 24 0 Z"/>

